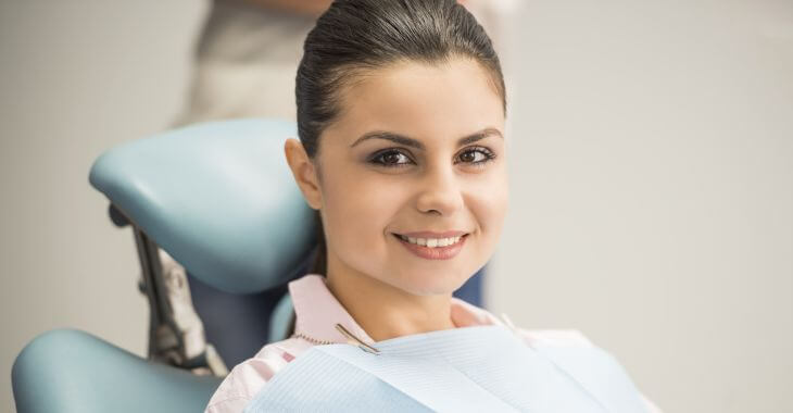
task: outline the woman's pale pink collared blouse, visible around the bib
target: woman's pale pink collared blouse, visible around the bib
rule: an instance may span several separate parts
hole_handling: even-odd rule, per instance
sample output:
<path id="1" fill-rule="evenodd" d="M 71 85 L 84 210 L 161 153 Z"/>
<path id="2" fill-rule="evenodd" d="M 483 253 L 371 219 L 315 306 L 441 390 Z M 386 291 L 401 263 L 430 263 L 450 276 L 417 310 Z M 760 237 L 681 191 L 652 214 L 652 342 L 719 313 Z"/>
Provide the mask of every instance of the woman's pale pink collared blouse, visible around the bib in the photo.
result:
<path id="1" fill-rule="evenodd" d="M 295 313 L 294 333 L 307 337 L 344 343 L 347 338 L 336 328 L 337 323 L 344 326 L 350 333 L 366 342 L 375 342 L 366 331 L 358 326 L 336 297 L 325 285 L 325 277 L 309 274 L 289 283 L 289 293 Z M 503 325 L 487 310 L 471 305 L 457 298 L 452 298 L 452 323 L 456 327 L 477 325 Z M 580 331 L 575 329 L 517 329 L 527 343 L 553 343 L 554 346 L 593 346 Z M 314 346 L 302 338 L 266 345 L 253 358 L 237 364 L 226 376 L 215 393 L 210 399 L 204 413 L 238 413 L 242 412 L 267 380 L 287 363 L 299 356 L 303 351 Z M 660 413 L 660 410 L 644 398 L 650 413 Z"/>

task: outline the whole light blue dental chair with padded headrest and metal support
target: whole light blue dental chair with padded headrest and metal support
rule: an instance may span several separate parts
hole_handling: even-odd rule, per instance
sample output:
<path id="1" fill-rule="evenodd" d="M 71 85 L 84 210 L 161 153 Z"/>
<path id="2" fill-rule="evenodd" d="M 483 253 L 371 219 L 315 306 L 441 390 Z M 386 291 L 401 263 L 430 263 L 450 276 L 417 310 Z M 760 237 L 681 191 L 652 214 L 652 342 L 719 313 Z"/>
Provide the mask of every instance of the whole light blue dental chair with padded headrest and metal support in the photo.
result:
<path id="1" fill-rule="evenodd" d="M 17 412 L 201 412 L 230 367 L 287 338 L 286 286 L 312 271 L 318 236 L 284 159 L 297 136 L 293 122 L 223 121 L 103 153 L 89 180 L 133 230 L 148 355 L 46 331 L 14 362 Z M 481 305 L 482 272 L 455 296 Z"/>

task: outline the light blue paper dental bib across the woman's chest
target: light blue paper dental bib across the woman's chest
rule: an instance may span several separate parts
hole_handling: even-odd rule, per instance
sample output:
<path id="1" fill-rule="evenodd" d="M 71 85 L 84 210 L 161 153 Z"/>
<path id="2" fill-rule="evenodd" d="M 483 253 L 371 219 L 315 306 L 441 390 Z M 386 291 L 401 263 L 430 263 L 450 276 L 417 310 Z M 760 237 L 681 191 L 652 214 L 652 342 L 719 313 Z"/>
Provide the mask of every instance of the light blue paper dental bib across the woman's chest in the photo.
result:
<path id="1" fill-rule="evenodd" d="M 529 347 L 504 326 L 315 346 L 278 372 L 246 413 L 646 412 L 622 366 L 597 347 Z"/>

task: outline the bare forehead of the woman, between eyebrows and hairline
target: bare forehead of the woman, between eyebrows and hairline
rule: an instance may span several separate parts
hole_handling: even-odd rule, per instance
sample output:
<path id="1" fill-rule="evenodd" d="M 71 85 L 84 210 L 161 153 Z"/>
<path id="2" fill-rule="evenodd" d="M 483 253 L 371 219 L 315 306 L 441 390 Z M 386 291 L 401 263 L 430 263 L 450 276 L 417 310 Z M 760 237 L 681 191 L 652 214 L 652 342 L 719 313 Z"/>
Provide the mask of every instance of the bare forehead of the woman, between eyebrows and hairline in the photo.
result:
<path id="1" fill-rule="evenodd" d="M 341 112 L 327 132 L 351 143 L 370 130 L 389 130 L 428 141 L 488 127 L 503 132 L 502 99 L 478 63 L 400 62 L 367 71 L 343 88 Z"/>

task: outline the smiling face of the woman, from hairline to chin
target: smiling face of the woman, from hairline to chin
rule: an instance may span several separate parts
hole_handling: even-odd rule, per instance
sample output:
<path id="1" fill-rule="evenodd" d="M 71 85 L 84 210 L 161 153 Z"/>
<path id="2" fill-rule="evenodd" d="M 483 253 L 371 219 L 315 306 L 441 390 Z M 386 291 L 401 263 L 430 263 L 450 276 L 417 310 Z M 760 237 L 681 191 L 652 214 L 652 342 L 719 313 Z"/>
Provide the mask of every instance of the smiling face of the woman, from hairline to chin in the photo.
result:
<path id="1" fill-rule="evenodd" d="M 393 64 L 358 80 L 319 138 L 312 206 L 328 273 L 451 293 L 491 258 L 506 214 L 501 97 L 462 59 Z"/>

